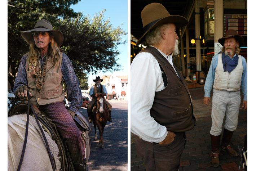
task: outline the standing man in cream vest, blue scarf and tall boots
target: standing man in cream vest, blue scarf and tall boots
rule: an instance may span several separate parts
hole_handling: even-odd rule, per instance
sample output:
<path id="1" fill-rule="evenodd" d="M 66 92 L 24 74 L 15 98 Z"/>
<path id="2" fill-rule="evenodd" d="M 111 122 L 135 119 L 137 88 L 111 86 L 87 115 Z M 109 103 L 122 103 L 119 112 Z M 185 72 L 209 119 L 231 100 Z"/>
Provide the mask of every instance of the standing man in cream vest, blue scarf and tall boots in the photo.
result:
<path id="1" fill-rule="evenodd" d="M 226 36 L 218 40 L 223 46 L 221 53 L 212 58 L 211 66 L 204 86 L 204 104 L 209 105 L 212 95 L 212 165 L 219 167 L 220 136 L 223 118 L 226 113 L 226 123 L 222 136 L 221 149 L 231 156 L 238 153 L 229 145 L 232 135 L 237 129 L 239 106 L 241 103 L 240 87 L 243 91 L 242 108 L 247 109 L 247 64 L 241 55 L 239 47 L 244 43 L 242 36 L 235 30 L 228 30 Z"/>

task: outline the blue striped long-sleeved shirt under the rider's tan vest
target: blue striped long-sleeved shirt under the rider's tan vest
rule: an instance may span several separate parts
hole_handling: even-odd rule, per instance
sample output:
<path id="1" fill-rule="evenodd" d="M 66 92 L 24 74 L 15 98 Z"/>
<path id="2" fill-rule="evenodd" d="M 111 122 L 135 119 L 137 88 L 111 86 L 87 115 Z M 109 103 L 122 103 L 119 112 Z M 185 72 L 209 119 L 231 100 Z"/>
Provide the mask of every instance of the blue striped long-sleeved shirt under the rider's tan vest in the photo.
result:
<path id="1" fill-rule="evenodd" d="M 39 58 L 41 67 L 44 64 L 45 59 L 46 58 Z M 15 84 L 13 87 L 13 93 L 16 92 L 18 87 L 23 85 L 27 86 L 26 60 L 27 60 L 27 55 L 24 55 L 21 58 L 21 64 L 19 64 L 17 77 L 15 79 Z M 75 75 L 70 59 L 69 57 L 67 57 L 65 53 L 63 53 L 62 55 L 61 73 L 63 75 L 63 79 L 67 86 L 68 99 L 71 102 L 69 110 L 76 112 L 78 109 L 81 108 L 81 105 L 83 104 L 82 93 L 79 87 L 78 78 Z"/>

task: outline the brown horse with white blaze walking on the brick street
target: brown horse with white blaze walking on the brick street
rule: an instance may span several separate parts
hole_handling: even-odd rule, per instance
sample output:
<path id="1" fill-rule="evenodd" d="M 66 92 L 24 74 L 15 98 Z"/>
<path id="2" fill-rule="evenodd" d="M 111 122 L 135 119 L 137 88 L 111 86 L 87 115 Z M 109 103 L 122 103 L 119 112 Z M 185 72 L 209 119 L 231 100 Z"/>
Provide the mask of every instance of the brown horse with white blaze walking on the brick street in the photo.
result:
<path id="1" fill-rule="evenodd" d="M 97 94 L 96 93 L 96 95 L 98 96 L 97 97 L 97 104 L 93 108 L 93 120 L 92 120 L 94 130 L 95 130 L 94 140 L 97 140 L 97 133 L 96 133 L 96 125 L 97 125 L 98 130 L 100 132 L 99 144 L 101 144 L 101 148 L 105 148 L 104 142 L 103 142 L 103 139 L 102 139 L 102 134 L 103 134 L 104 127 L 106 126 L 107 120 L 109 119 L 109 111 L 108 111 L 107 106 L 105 104 L 105 98 L 104 98 L 106 93 L 104 93 L 104 94 Z"/>

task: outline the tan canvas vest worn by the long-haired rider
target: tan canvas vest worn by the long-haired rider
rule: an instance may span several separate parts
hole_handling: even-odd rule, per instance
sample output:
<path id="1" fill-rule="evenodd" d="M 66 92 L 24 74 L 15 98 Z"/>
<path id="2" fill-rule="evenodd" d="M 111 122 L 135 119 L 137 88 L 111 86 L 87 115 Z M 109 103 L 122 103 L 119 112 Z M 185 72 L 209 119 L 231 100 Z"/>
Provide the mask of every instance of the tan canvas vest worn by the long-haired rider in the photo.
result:
<path id="1" fill-rule="evenodd" d="M 29 62 L 26 61 L 26 73 L 28 82 L 28 92 L 32 94 L 31 102 L 32 104 L 39 107 L 39 105 L 62 102 L 64 99 L 63 86 L 62 86 L 62 73 L 61 73 L 61 63 L 58 67 L 50 62 L 51 57 L 49 57 L 46 66 L 44 85 L 40 93 L 37 92 L 35 78 L 31 76 L 28 71 Z M 62 52 L 61 52 L 62 61 Z"/>

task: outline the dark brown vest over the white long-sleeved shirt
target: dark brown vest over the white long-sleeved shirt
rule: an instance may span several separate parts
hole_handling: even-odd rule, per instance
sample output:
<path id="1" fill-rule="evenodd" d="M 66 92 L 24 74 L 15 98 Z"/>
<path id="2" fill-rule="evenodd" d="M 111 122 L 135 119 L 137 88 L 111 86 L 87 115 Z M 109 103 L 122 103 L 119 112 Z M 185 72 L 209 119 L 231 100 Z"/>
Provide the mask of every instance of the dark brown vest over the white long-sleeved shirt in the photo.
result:
<path id="1" fill-rule="evenodd" d="M 194 128 L 193 103 L 186 82 L 179 72 L 175 70 L 167 59 L 154 47 L 147 47 L 140 52 L 152 54 L 162 66 L 168 80 L 167 87 L 155 92 L 154 103 L 150 110 L 151 117 L 167 128 L 168 131 L 185 132 Z"/>

